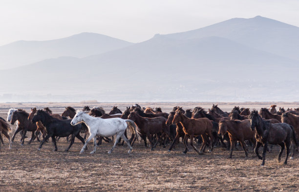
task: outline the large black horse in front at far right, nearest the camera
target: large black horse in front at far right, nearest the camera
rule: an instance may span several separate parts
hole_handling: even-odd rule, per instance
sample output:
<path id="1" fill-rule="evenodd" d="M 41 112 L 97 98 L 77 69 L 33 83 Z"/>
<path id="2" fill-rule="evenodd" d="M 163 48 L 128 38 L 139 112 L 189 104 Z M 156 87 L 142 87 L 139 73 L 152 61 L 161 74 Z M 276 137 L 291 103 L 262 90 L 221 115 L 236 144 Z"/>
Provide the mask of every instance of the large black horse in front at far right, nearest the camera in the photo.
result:
<path id="1" fill-rule="evenodd" d="M 271 124 L 269 121 L 263 120 L 262 117 L 258 115 L 258 112 L 256 110 L 251 112 L 249 118 L 251 123 L 251 129 L 253 131 L 256 130 L 255 152 L 257 157 L 263 160 L 261 165 L 265 165 L 265 156 L 268 143 L 280 145 L 281 150 L 278 154 L 278 162 L 280 161 L 281 154 L 284 148 L 286 148 L 286 157 L 284 164 L 287 164 L 291 140 L 293 139 L 294 143 L 298 146 L 293 126 L 287 123 Z M 262 157 L 258 154 L 258 148 L 261 145 L 264 146 Z"/>

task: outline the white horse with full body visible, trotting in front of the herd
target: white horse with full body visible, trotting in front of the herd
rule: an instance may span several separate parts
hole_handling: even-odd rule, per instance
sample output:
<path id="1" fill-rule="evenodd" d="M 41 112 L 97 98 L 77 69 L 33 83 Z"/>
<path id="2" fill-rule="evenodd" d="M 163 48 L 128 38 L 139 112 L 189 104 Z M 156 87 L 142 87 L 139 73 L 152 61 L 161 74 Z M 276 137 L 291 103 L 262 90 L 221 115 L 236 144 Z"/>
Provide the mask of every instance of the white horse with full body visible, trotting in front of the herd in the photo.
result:
<path id="1" fill-rule="evenodd" d="M 89 137 L 85 141 L 85 144 L 83 148 L 81 149 L 80 153 L 84 152 L 84 149 L 87 145 L 87 143 L 93 138 L 93 145 L 94 149 L 90 154 L 93 154 L 96 152 L 96 135 L 100 135 L 103 137 L 110 137 L 116 134 L 115 143 L 111 150 L 108 152 L 108 154 L 111 154 L 114 150 L 116 144 L 118 143 L 119 137 L 121 137 L 129 147 L 128 153 L 131 153 L 132 147 L 130 145 L 130 142 L 128 141 L 128 138 L 125 136 L 125 131 L 127 128 L 131 131 L 132 134 L 136 135 L 137 141 L 139 141 L 139 132 L 138 127 L 135 124 L 134 121 L 129 119 L 122 119 L 122 118 L 109 118 L 109 119 L 102 119 L 100 117 L 93 117 L 90 115 L 87 115 L 83 111 L 77 111 L 76 115 L 74 116 L 73 120 L 71 121 L 71 125 L 74 126 L 78 123 L 85 123 L 88 131 L 89 131 Z"/>

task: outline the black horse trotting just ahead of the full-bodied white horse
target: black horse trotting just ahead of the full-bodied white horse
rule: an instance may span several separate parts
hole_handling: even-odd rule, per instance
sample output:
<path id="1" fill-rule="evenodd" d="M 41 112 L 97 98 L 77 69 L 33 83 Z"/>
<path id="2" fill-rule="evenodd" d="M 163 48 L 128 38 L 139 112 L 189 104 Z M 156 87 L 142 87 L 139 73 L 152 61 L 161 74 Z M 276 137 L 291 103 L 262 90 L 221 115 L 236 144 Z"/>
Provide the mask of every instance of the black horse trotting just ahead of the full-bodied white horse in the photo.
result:
<path id="1" fill-rule="evenodd" d="M 77 137 L 83 144 L 85 143 L 82 136 L 80 136 L 80 130 L 82 129 L 82 124 L 72 126 L 70 124 L 71 119 L 59 120 L 57 118 L 52 117 L 51 115 L 44 112 L 43 110 L 38 110 L 33 116 L 31 121 L 33 123 L 41 121 L 47 130 L 47 134 L 43 139 L 43 141 L 41 142 L 40 147 L 38 148 L 39 151 L 42 149 L 43 143 L 46 140 L 48 140 L 50 137 L 52 138 L 52 141 L 54 143 L 54 151 L 57 151 L 57 145 L 55 139 L 56 136 L 66 137 L 71 134 L 70 144 L 65 149 L 65 151 L 68 151 L 69 148 L 73 145 L 75 137 Z"/>

